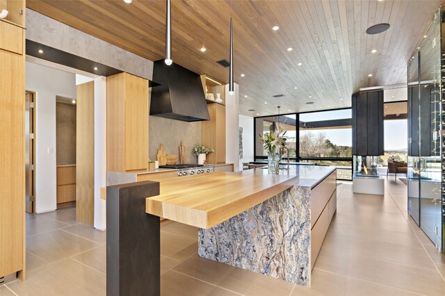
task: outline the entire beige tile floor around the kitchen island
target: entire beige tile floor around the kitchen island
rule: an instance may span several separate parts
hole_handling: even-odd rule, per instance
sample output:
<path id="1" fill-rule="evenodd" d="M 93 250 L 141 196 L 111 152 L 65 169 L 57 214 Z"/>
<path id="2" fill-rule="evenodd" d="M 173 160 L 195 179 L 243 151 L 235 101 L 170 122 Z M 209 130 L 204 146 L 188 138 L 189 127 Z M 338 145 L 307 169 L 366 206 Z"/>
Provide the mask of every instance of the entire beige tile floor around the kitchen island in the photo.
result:
<path id="1" fill-rule="evenodd" d="M 162 295 L 445 295 L 445 256 L 407 215 L 406 186 L 385 197 L 338 187 L 337 215 L 312 288 L 197 256 L 197 230 L 161 224 Z M 72 208 L 26 217 L 27 280 L 0 295 L 105 295 L 105 231 L 76 224 Z"/>

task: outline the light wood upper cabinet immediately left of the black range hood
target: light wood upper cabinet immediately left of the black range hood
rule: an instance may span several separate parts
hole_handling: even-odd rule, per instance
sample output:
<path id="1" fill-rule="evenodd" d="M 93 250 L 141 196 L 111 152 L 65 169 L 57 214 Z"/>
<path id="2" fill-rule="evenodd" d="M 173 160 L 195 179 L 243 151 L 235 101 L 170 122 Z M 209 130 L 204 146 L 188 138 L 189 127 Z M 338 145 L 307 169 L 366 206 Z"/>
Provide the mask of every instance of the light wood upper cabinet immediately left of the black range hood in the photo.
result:
<path id="1" fill-rule="evenodd" d="M 148 81 L 128 73 L 106 78 L 106 168 L 147 170 Z"/>

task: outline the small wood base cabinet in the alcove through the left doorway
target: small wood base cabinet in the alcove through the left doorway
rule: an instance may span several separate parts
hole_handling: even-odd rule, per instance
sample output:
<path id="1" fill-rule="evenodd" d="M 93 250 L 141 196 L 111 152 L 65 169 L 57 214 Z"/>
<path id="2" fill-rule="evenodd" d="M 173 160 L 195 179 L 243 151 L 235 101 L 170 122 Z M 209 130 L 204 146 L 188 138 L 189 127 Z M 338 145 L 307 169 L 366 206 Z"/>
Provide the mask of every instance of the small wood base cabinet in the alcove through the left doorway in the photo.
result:
<path id="1" fill-rule="evenodd" d="M 57 204 L 76 200 L 76 167 L 57 167 Z"/>

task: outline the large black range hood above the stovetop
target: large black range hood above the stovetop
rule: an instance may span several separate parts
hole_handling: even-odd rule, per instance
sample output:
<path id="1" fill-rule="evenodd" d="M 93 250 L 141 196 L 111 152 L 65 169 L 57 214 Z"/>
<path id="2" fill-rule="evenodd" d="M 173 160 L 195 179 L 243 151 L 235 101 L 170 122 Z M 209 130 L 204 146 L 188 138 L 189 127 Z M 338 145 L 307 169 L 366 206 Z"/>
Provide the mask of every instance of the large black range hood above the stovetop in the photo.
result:
<path id="1" fill-rule="evenodd" d="M 153 65 L 153 81 L 161 85 L 152 88 L 150 115 L 199 122 L 210 120 L 200 75 L 175 63 L 164 60 Z"/>

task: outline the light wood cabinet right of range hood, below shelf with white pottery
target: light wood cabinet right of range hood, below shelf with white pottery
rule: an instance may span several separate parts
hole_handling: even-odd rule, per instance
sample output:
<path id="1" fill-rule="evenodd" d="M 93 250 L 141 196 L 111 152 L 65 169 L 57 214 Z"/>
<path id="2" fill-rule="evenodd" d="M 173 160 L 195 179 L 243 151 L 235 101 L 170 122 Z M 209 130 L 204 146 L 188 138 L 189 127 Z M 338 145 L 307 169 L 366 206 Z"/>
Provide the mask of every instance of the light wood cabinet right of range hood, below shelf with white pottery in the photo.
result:
<path id="1" fill-rule="evenodd" d="M 207 154 L 207 163 L 225 163 L 225 106 L 207 104 L 210 120 L 202 122 L 202 145 L 213 148 Z"/>

